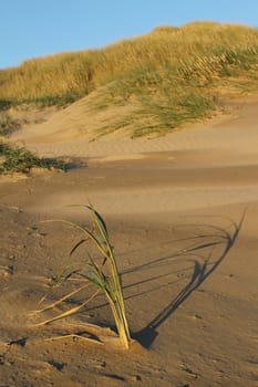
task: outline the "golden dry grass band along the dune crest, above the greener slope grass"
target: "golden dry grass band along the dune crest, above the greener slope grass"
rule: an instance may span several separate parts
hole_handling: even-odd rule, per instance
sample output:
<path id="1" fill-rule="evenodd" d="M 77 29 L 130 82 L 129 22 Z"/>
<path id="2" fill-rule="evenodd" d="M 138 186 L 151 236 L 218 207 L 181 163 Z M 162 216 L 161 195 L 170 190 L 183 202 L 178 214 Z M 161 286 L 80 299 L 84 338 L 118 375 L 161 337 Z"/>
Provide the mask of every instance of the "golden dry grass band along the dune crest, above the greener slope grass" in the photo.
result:
<path id="1" fill-rule="evenodd" d="M 30 100 L 85 95 L 128 71 L 171 65 L 180 73 L 216 76 L 227 65 L 257 66 L 258 30 L 196 22 L 159 27 L 151 33 L 101 50 L 66 52 L 23 62 L 0 72 L 0 97 Z M 231 70 L 233 71 L 233 70 Z"/>

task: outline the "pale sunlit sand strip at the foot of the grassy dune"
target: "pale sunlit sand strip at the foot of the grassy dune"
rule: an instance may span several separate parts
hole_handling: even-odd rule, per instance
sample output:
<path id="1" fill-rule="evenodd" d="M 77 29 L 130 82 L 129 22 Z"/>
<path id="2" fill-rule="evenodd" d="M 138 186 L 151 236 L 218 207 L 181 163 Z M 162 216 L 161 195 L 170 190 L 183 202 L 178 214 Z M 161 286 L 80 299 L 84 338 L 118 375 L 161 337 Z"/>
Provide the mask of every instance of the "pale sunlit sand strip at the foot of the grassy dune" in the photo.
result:
<path id="1" fill-rule="evenodd" d="M 122 156 L 128 158 L 133 154 L 142 153 L 207 149 L 230 153 L 228 159 L 230 156 L 241 157 L 240 163 L 245 163 L 246 156 L 246 163 L 249 163 L 250 158 L 256 159 L 257 155 L 257 103 L 256 95 L 236 98 L 228 103 L 230 114 L 158 138 L 130 139 L 118 132 L 118 138 L 107 135 L 95 142 L 89 140 L 86 130 L 85 135 L 79 130 L 86 117 L 82 114 L 78 123 L 72 123 L 66 111 L 55 113 L 43 124 L 30 125 L 14 133 L 12 138 L 24 142 L 41 155 L 113 158 L 117 156 L 121 159 Z M 69 109 L 72 111 L 71 107 Z M 65 132 L 66 126 L 69 129 Z M 68 133 L 71 136 L 66 139 Z M 217 159 L 219 156 L 217 153 Z"/>

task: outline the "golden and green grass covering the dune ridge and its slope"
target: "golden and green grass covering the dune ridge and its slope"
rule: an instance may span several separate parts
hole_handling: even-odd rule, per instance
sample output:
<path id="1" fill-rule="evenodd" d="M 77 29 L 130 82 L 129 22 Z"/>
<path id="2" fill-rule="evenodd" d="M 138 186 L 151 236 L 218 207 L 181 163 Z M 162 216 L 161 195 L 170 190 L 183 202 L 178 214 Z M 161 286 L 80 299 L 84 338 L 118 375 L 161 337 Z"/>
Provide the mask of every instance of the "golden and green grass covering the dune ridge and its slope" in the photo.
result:
<path id="1" fill-rule="evenodd" d="M 218 108 L 219 87 L 257 91 L 257 70 L 258 29 L 215 22 L 165 25 L 100 50 L 28 60 L 2 70 L 0 107 L 66 105 L 107 86 L 95 101 L 96 109 L 137 104 L 132 136 L 163 134 L 210 115 Z M 123 119 L 116 124 L 123 125 Z"/>

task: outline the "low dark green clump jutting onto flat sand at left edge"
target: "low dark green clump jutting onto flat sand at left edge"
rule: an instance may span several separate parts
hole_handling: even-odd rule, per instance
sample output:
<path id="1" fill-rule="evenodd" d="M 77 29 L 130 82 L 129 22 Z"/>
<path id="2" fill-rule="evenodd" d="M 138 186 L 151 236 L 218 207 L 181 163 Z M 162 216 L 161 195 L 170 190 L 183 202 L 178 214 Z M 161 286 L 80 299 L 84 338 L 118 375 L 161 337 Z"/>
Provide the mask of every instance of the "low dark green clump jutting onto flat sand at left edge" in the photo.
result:
<path id="1" fill-rule="evenodd" d="M 19 147 L 0 142 L 0 175 L 22 172 L 28 174 L 32 168 L 65 169 L 63 160 L 40 158 L 25 147 Z"/>

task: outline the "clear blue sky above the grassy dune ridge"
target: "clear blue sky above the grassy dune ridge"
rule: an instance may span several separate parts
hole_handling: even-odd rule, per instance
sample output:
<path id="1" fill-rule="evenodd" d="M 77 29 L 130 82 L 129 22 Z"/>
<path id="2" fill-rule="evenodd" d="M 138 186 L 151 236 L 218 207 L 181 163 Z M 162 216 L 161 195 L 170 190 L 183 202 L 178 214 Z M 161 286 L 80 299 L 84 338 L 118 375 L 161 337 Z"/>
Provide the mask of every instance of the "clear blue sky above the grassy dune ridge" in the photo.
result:
<path id="1" fill-rule="evenodd" d="M 0 0 L 0 69 L 196 20 L 258 27 L 258 0 Z"/>

